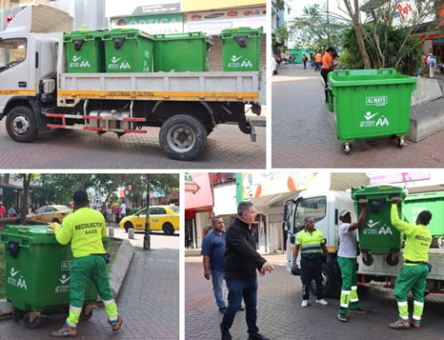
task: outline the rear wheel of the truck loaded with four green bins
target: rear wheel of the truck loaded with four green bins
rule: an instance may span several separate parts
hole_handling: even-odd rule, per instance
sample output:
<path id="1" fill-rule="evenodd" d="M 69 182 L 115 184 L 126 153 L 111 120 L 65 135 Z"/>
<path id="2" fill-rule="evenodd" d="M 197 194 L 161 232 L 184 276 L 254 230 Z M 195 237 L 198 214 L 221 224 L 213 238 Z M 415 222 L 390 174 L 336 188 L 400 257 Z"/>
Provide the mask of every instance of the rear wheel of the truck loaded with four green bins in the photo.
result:
<path id="1" fill-rule="evenodd" d="M 191 115 L 173 115 L 159 132 L 159 142 L 171 158 L 193 161 L 202 154 L 207 141 L 207 129 Z"/>

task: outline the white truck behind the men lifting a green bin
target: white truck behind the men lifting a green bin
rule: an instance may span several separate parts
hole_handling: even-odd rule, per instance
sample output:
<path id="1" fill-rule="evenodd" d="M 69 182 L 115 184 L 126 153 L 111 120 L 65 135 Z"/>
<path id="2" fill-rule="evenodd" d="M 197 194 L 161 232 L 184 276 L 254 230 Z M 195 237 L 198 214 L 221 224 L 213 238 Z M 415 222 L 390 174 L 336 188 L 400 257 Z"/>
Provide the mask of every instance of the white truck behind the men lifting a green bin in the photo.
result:
<path id="1" fill-rule="evenodd" d="M 292 272 L 291 269 L 291 254 L 295 248 L 295 236 L 304 228 L 304 217 L 313 217 L 315 227 L 324 234 L 327 249 L 333 259 L 331 265 L 327 265 L 325 259 L 322 265 L 322 279 L 326 297 L 337 297 L 342 284 L 336 257 L 340 224 L 338 214 L 343 209 L 352 212 L 352 221 L 357 220 L 351 194 L 345 191 L 303 191 L 294 200 L 289 200 L 284 204 L 282 227 L 284 233 L 287 233 L 287 270 L 289 273 L 299 274 Z M 297 262 L 299 260 L 300 255 Z M 357 262 L 358 286 L 366 286 L 370 281 L 375 281 L 384 282 L 385 288 L 393 288 L 403 261 L 400 259 L 396 265 L 389 265 L 385 255 L 373 255 L 373 263 L 365 265 L 360 255 L 357 257 Z M 432 272 L 427 278 L 426 292 L 442 294 L 444 293 L 444 249 L 431 248 L 429 262 L 432 264 Z M 311 289 L 314 292 L 313 285 Z"/>

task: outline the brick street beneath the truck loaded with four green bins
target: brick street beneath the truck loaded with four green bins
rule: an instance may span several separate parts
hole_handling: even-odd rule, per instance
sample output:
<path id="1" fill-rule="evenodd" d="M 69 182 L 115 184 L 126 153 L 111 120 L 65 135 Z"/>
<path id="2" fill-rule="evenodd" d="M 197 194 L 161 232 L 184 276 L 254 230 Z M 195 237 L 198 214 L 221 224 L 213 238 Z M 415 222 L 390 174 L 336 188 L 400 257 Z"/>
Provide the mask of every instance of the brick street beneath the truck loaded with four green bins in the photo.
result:
<path id="1" fill-rule="evenodd" d="M 207 146 L 194 162 L 175 161 L 159 145 L 159 128 L 147 134 L 58 130 L 34 143 L 9 137 L 6 119 L 0 122 L 1 169 L 265 169 L 266 127 L 256 127 L 257 142 L 237 125 L 222 124 L 210 134 Z"/>

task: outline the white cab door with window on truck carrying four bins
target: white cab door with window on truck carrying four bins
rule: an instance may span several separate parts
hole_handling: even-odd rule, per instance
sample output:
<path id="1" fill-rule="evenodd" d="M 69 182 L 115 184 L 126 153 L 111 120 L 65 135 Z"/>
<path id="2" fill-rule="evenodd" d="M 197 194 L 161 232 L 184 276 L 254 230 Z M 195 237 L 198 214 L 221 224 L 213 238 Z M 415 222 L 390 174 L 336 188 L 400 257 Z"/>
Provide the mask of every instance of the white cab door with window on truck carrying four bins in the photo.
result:
<path id="1" fill-rule="evenodd" d="M 0 39 L 0 112 L 12 97 L 35 94 L 29 82 L 29 53 L 26 37 Z M 34 59 L 34 58 L 33 58 Z"/>

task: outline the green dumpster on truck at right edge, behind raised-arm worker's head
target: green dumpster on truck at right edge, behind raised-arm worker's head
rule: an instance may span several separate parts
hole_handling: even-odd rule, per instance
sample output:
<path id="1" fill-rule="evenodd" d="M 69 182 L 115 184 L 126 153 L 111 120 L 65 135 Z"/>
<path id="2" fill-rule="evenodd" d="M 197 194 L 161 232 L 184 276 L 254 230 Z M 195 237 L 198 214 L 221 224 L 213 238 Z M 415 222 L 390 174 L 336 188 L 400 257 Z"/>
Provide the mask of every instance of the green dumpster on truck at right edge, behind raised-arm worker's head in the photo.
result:
<path id="1" fill-rule="evenodd" d="M 416 222 L 416 217 L 423 210 L 432 212 L 432 220 L 427 225 L 434 237 L 444 236 L 444 192 L 437 191 L 423 194 L 408 194 L 404 201 L 404 217 Z"/>

